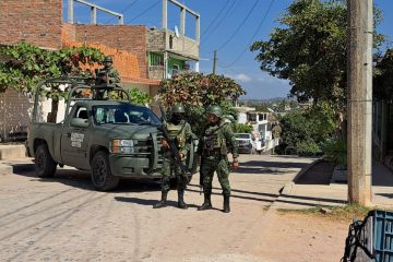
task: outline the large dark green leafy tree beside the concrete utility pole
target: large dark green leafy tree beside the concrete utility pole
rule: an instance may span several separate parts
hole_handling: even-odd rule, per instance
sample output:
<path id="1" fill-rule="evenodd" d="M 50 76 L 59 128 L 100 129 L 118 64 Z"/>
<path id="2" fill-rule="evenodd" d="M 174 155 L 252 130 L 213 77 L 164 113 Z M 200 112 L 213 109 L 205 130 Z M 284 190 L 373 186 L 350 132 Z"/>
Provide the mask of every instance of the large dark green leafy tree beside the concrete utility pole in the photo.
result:
<path id="1" fill-rule="evenodd" d="M 381 21 L 374 11 L 374 25 Z M 289 80 L 299 102 L 327 102 L 336 112 L 346 108 L 347 11 L 340 0 L 297 0 L 278 19 L 269 40 L 250 47 L 261 70 Z M 374 34 L 374 47 L 383 36 Z"/>

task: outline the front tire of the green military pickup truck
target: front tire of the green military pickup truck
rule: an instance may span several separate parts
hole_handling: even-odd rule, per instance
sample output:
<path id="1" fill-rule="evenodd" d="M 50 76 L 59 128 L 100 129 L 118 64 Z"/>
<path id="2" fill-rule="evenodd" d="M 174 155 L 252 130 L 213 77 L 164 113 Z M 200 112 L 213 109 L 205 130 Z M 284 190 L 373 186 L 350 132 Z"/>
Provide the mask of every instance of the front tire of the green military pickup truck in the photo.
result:
<path id="1" fill-rule="evenodd" d="M 98 151 L 92 160 L 92 182 L 99 191 L 109 191 L 119 184 L 119 178 L 111 174 L 108 154 Z"/>

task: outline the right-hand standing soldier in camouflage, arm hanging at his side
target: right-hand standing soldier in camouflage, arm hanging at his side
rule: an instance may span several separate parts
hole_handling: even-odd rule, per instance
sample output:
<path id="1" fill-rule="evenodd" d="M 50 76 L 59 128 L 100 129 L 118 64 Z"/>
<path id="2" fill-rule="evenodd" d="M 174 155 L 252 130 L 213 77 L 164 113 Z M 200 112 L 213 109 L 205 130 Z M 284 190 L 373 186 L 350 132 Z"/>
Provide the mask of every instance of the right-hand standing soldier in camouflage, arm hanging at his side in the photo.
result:
<path id="1" fill-rule="evenodd" d="M 233 167 L 238 168 L 238 145 L 231 131 L 230 124 L 222 121 L 223 111 L 217 105 L 207 108 L 209 124 L 203 132 L 200 143 L 198 145 L 198 154 L 201 156 L 201 176 L 203 176 L 203 194 L 204 202 L 198 210 L 212 209 L 212 181 L 214 171 L 217 172 L 218 181 L 223 189 L 224 209 L 225 213 L 230 212 L 229 196 L 229 170 L 228 170 L 228 148 L 233 155 Z"/>

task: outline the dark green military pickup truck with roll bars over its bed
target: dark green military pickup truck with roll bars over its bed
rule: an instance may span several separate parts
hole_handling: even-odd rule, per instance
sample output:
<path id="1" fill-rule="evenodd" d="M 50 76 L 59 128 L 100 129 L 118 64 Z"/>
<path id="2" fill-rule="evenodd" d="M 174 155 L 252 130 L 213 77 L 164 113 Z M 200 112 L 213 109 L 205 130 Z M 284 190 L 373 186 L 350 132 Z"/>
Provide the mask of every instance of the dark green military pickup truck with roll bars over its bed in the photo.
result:
<path id="1" fill-rule="evenodd" d="M 40 93 L 56 85 L 69 90 L 64 120 L 38 121 Z M 150 108 L 131 104 L 122 88 L 59 78 L 40 83 L 36 91 L 27 151 L 35 157 L 38 177 L 53 177 L 58 165 L 68 165 L 90 170 L 99 191 L 115 189 L 120 178 L 160 177 L 162 120 Z M 195 141 L 189 140 L 189 176 L 196 169 Z"/>

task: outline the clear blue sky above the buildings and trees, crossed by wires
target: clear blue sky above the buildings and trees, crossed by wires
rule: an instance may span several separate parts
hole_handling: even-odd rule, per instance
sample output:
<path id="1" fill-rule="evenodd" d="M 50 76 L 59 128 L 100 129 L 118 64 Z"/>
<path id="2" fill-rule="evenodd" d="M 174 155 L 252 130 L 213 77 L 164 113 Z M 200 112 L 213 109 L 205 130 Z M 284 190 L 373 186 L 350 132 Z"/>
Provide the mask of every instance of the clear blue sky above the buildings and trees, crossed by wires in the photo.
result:
<path id="1" fill-rule="evenodd" d="M 124 24 L 162 27 L 162 0 L 87 0 L 111 11 L 122 13 Z M 279 27 L 277 19 L 285 13 L 294 0 L 178 0 L 201 15 L 200 71 L 211 73 L 213 52 L 217 50 L 217 74 L 235 79 L 247 95 L 245 99 L 269 99 L 287 97 L 290 86 L 260 70 L 254 60 L 255 52 L 249 51 L 254 40 L 267 40 L 274 27 Z M 388 37 L 384 48 L 393 47 L 393 1 L 374 0 L 382 11 L 384 21 L 378 31 Z M 90 10 L 74 4 L 79 23 L 90 22 Z M 64 19 L 67 1 L 64 0 Z M 168 7 L 168 27 L 179 27 L 179 10 Z M 97 13 L 98 24 L 115 24 L 117 21 L 105 13 Z M 186 17 L 186 35 L 193 38 L 195 22 Z"/>

